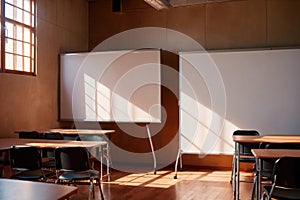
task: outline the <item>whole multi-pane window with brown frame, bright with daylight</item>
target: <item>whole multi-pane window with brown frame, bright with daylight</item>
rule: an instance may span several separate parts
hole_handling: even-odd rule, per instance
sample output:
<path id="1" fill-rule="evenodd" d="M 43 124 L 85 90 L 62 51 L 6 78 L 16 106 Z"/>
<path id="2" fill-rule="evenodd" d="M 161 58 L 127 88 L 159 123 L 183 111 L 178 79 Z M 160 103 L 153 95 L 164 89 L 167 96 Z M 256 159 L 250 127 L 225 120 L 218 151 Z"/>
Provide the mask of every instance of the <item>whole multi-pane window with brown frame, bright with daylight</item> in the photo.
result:
<path id="1" fill-rule="evenodd" d="M 35 75 L 35 0 L 2 0 L 0 13 L 1 72 Z"/>

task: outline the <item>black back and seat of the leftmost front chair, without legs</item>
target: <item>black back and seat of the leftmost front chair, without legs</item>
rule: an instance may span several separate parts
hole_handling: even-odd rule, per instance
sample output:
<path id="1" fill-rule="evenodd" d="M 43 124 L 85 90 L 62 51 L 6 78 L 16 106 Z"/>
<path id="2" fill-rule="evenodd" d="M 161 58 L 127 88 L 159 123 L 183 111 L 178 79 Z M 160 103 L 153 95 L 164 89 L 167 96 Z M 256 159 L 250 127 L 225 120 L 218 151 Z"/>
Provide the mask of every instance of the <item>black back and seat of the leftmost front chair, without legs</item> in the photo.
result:
<path id="1" fill-rule="evenodd" d="M 12 146 L 9 151 L 11 169 L 16 171 L 11 178 L 46 181 L 53 174 L 42 169 L 41 154 L 36 147 Z"/>

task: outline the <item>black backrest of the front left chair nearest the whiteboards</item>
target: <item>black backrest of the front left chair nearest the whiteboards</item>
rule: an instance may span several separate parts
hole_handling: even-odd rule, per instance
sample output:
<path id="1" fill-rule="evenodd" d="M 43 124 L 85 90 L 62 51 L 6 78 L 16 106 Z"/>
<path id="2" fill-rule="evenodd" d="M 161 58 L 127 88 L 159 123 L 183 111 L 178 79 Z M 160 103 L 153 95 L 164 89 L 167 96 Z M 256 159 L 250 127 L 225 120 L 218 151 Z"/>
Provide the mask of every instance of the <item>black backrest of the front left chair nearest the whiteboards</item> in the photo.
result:
<path id="1" fill-rule="evenodd" d="M 57 170 L 90 169 L 88 152 L 83 147 L 57 147 L 54 153 Z"/>

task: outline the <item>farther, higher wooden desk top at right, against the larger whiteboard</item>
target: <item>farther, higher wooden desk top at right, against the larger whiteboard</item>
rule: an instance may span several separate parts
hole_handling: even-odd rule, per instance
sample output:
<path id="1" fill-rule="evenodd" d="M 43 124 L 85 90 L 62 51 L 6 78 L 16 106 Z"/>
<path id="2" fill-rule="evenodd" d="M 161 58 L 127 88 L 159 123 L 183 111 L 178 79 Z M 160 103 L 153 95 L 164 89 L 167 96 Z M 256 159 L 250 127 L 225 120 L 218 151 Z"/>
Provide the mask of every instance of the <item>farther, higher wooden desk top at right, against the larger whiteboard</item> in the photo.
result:
<path id="1" fill-rule="evenodd" d="M 232 139 L 238 143 L 300 143 L 300 135 L 261 135 L 261 136 L 246 136 L 233 135 Z"/>

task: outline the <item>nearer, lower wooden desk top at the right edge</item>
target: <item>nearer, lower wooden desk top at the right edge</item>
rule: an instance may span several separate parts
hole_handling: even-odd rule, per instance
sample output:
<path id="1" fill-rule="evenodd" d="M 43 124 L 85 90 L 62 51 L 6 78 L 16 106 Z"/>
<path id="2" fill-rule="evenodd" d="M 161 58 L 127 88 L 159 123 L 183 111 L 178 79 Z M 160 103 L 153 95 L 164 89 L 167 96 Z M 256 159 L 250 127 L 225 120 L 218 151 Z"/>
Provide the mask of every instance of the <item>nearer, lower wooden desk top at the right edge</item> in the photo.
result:
<path id="1" fill-rule="evenodd" d="M 251 152 L 256 158 L 300 157 L 300 150 L 298 149 L 251 149 Z"/>

